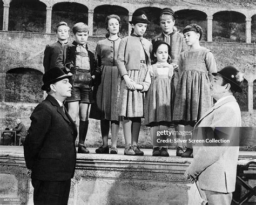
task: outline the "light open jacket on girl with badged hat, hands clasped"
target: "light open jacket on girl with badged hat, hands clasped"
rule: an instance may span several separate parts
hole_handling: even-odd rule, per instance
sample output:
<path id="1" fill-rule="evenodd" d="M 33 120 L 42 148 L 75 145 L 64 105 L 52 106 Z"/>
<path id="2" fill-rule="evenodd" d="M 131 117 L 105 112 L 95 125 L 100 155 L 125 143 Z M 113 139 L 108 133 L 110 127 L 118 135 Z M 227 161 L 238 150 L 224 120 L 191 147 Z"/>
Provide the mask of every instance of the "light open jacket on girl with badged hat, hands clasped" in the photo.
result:
<path id="1" fill-rule="evenodd" d="M 128 70 L 140 69 L 140 44 L 147 55 L 147 65 L 151 65 L 151 42 L 143 37 L 127 36 L 121 40 L 118 48 L 117 67 L 121 77 L 127 74 Z"/>

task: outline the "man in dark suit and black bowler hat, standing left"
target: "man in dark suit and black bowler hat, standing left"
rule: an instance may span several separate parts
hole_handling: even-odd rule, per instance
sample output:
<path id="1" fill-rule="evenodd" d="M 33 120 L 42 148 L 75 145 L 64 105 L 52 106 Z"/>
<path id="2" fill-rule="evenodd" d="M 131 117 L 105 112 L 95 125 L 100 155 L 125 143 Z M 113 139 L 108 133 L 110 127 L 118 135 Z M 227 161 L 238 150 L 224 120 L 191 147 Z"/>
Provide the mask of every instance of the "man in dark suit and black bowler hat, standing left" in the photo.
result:
<path id="1" fill-rule="evenodd" d="M 48 96 L 30 117 L 24 156 L 26 167 L 32 171 L 34 204 L 68 204 L 77 137 L 76 124 L 63 106 L 71 96 L 70 78 L 58 67 L 46 71 L 42 90 Z"/>

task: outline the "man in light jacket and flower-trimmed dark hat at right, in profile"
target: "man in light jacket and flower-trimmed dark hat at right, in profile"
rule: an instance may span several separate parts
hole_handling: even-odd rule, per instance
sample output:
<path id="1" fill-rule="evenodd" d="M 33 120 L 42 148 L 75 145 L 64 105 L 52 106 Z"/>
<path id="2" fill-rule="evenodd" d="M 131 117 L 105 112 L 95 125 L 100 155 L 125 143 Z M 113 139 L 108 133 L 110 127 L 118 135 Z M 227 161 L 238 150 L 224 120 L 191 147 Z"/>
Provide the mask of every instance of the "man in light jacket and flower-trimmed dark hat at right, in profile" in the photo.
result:
<path id="1" fill-rule="evenodd" d="M 241 127 L 241 111 L 233 94 L 242 92 L 242 73 L 232 66 L 226 66 L 217 73 L 210 84 L 212 97 L 217 100 L 194 127 L 194 139 L 210 136 L 204 132 L 212 128 L 214 133 L 223 130 L 231 140 L 235 130 Z M 222 127 L 222 128 L 221 128 Z M 206 128 L 206 129 L 204 129 Z M 212 134 L 212 133 L 211 133 Z M 219 135 L 214 135 L 219 136 Z M 194 146 L 194 159 L 185 172 L 188 180 L 198 180 L 208 204 L 231 204 L 235 190 L 239 145 L 236 146 Z"/>

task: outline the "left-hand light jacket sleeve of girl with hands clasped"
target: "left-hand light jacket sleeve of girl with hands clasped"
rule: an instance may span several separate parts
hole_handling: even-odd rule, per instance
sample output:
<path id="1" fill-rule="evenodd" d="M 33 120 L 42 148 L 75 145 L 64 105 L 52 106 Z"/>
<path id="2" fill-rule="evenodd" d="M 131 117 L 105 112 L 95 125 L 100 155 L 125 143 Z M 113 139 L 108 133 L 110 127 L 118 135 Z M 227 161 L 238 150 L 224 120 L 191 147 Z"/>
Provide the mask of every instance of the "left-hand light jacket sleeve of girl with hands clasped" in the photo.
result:
<path id="1" fill-rule="evenodd" d="M 126 43 L 127 43 L 127 38 L 123 38 L 118 47 L 117 68 L 121 77 L 123 77 L 125 74 L 128 74 L 125 67 L 126 61 L 124 59 Z"/>

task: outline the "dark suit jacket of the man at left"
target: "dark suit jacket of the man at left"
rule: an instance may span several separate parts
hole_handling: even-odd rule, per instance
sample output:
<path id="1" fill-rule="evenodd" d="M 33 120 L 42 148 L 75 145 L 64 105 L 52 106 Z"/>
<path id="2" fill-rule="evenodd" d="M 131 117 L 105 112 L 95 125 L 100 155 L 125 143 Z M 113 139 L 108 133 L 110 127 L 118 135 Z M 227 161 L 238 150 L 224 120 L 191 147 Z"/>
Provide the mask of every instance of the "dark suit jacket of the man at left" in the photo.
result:
<path id="1" fill-rule="evenodd" d="M 66 181 L 76 165 L 77 128 L 51 95 L 31 114 L 31 126 L 24 142 L 26 167 L 31 178 L 41 181 Z"/>

